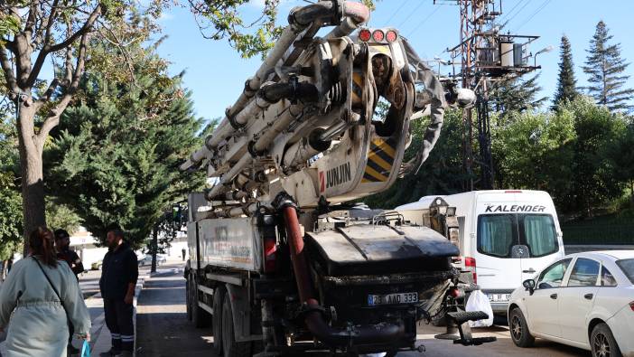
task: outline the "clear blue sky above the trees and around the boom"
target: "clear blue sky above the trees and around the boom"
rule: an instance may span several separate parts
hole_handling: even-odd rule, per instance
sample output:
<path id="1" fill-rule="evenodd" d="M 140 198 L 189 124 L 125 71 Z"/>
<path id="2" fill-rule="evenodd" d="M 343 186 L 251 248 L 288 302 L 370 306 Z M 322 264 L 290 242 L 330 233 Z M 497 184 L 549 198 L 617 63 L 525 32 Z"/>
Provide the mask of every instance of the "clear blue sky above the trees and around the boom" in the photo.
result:
<path id="1" fill-rule="evenodd" d="M 242 8 L 246 18 L 255 18 L 262 2 L 252 1 Z M 294 5 L 305 4 L 283 0 L 279 8 L 280 20 L 286 18 Z M 530 51 L 535 53 L 548 45 L 555 46 L 554 51 L 542 53 L 537 58 L 542 66 L 539 83 L 544 88 L 543 96 L 552 97 L 555 91 L 559 43 L 564 33 L 572 43 L 575 75 L 580 86 L 586 83 L 581 68 L 585 50 L 600 20 L 607 23 L 614 36 L 612 42 L 620 42 L 622 56 L 627 61 L 634 61 L 634 41 L 631 39 L 634 0 L 503 0 L 502 5 L 505 11 L 502 20 L 510 20 L 506 29 L 511 33 L 541 36 L 531 44 Z M 245 80 L 255 73 L 260 59 L 242 59 L 227 41 L 204 39 L 186 8 L 173 7 L 163 15 L 161 24 L 168 38 L 159 52 L 171 61 L 173 74 L 185 70 L 185 86 L 193 92 L 197 115 L 207 119 L 221 117 L 225 108 L 238 98 Z M 448 59 L 443 51 L 459 42 L 458 7 L 434 5 L 433 0 L 379 0 L 370 25 L 398 28 L 423 59 L 434 59 L 435 56 Z M 442 71 L 446 73 L 449 68 Z M 632 88 L 634 65 L 629 66 L 627 74 L 632 76 L 628 82 Z"/>

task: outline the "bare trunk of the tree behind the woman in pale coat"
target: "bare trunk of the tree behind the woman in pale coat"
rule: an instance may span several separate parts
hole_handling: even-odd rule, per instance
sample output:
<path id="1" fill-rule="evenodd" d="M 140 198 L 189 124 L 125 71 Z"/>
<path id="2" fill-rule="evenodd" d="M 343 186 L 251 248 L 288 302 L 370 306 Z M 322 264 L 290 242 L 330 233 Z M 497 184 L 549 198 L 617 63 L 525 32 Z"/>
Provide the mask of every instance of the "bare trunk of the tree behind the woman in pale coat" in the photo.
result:
<path id="1" fill-rule="evenodd" d="M 22 203 L 24 227 L 24 255 L 27 253 L 28 236 L 39 226 L 46 225 L 44 209 L 44 182 L 42 174 L 42 143 L 35 136 L 33 119 L 35 108 L 19 103 L 18 142 L 20 171 L 22 174 Z"/>

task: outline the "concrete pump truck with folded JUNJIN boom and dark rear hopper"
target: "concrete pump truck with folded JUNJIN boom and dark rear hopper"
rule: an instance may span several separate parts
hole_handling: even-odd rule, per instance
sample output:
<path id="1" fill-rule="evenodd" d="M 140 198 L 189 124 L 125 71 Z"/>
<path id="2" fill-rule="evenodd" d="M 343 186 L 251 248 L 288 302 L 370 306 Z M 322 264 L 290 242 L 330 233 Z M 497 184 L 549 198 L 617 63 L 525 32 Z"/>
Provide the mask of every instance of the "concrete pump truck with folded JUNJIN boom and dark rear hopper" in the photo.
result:
<path id="1" fill-rule="evenodd" d="M 210 183 L 188 199 L 188 315 L 211 324 L 221 356 L 420 351 L 416 324 L 441 314 L 460 327 L 455 343 L 494 339 L 472 337 L 467 321 L 486 314 L 461 308 L 457 227 L 350 203 L 418 170 L 444 109 L 475 100 L 443 88 L 406 38 L 365 26 L 368 18 L 351 1 L 294 8 L 226 117 L 182 164 L 205 169 Z M 410 122 L 421 117 L 424 143 L 405 162 Z"/>

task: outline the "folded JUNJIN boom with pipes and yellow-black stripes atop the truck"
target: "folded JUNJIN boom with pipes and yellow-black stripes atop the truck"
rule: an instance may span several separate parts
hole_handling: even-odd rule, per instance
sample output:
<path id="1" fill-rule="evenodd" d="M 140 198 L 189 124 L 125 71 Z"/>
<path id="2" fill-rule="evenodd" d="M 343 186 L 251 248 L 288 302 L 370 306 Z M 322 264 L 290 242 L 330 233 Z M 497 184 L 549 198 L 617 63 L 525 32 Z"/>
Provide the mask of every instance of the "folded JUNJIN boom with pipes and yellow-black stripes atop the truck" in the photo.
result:
<path id="1" fill-rule="evenodd" d="M 473 104 L 470 90 L 443 88 L 396 29 L 363 27 L 368 19 L 368 8 L 350 1 L 292 10 L 226 117 L 182 164 L 207 168 L 213 216 L 250 215 L 281 192 L 316 207 L 386 190 L 427 158 L 445 108 Z M 315 37 L 327 25 L 335 27 Z M 379 101 L 385 118 L 375 116 Z M 410 121 L 424 116 L 424 144 L 405 163 Z"/>

